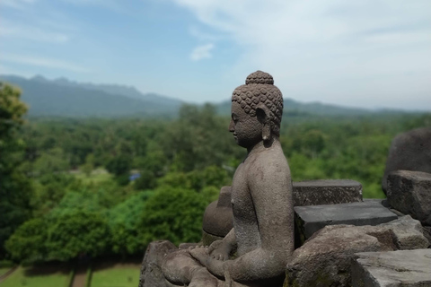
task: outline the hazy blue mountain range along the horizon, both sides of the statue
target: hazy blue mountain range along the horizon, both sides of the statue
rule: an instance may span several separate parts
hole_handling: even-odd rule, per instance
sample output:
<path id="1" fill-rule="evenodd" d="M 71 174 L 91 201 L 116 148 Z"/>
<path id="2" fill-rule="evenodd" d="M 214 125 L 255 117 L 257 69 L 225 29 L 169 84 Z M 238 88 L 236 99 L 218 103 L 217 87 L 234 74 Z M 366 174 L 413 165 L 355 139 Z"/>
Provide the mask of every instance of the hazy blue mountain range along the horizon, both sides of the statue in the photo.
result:
<path id="1" fill-rule="evenodd" d="M 76 83 L 66 78 L 48 80 L 41 75 L 30 79 L 16 75 L 0 75 L 0 81 L 12 83 L 22 90 L 22 100 L 30 106 L 29 115 L 34 117 L 174 117 L 184 103 L 118 84 Z M 287 98 L 284 103 L 285 113 L 299 116 L 347 116 L 375 112 L 320 102 L 302 103 Z M 217 111 L 223 115 L 230 114 L 230 107 L 230 100 L 216 104 Z"/>

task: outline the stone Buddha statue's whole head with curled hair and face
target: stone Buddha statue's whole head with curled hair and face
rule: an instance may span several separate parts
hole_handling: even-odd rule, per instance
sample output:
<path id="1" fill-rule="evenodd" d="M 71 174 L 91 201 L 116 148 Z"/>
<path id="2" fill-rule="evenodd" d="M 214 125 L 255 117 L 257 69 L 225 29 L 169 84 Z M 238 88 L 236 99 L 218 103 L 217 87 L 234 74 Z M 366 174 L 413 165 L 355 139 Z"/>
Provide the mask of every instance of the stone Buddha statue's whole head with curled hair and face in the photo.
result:
<path id="1" fill-rule="evenodd" d="M 283 96 L 268 73 L 250 74 L 245 84 L 233 91 L 229 130 L 237 143 L 249 147 L 280 135 Z"/>

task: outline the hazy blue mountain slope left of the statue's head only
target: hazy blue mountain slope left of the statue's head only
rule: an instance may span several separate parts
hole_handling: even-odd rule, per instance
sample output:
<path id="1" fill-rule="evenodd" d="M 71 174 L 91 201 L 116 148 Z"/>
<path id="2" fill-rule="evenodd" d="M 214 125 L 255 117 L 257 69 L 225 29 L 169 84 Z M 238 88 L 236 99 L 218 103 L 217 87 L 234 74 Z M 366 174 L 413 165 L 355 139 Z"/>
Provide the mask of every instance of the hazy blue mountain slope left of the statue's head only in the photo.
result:
<path id="1" fill-rule="evenodd" d="M 22 100 L 30 106 L 30 116 L 172 116 L 182 104 L 180 100 L 113 84 L 75 83 L 65 78 L 48 80 L 40 75 L 31 79 L 0 75 L 0 80 L 21 88 Z"/>

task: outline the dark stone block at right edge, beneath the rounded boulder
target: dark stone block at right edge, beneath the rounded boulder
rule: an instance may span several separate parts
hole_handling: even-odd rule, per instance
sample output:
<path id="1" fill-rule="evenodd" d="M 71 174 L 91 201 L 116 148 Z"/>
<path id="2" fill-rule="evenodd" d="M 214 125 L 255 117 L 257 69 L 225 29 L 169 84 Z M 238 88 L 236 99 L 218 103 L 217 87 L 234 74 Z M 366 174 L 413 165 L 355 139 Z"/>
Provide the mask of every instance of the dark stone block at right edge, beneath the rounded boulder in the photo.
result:
<path id="1" fill-rule="evenodd" d="M 386 193 L 393 208 L 431 226 L 431 173 L 394 171 L 388 176 Z"/>

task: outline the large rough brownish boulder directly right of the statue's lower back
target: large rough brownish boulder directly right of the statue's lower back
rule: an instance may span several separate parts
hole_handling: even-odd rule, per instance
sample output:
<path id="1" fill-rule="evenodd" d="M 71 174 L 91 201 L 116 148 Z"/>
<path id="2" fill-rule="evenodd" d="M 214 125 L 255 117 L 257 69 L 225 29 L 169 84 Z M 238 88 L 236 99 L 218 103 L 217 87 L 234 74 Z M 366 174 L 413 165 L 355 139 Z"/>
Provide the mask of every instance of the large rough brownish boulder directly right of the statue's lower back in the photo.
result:
<path id="1" fill-rule="evenodd" d="M 377 226 L 326 226 L 295 250 L 285 286 L 350 286 L 355 253 L 426 247 L 420 222 L 409 215 Z"/>

